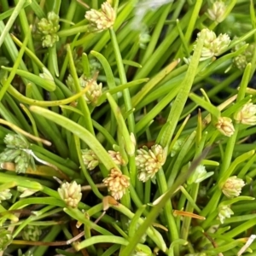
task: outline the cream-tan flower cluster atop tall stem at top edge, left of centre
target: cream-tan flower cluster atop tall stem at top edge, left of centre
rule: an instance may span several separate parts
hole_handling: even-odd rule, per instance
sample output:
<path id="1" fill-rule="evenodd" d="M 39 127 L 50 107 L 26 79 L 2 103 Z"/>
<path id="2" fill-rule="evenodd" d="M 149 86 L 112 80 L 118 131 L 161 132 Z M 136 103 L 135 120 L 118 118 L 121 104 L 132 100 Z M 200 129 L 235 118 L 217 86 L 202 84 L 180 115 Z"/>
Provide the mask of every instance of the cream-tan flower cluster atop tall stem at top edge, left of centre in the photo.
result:
<path id="1" fill-rule="evenodd" d="M 113 26 L 115 20 L 115 11 L 110 3 L 102 3 L 102 11 L 90 9 L 85 14 L 85 18 L 89 20 L 89 29 L 92 32 L 102 32 Z"/>

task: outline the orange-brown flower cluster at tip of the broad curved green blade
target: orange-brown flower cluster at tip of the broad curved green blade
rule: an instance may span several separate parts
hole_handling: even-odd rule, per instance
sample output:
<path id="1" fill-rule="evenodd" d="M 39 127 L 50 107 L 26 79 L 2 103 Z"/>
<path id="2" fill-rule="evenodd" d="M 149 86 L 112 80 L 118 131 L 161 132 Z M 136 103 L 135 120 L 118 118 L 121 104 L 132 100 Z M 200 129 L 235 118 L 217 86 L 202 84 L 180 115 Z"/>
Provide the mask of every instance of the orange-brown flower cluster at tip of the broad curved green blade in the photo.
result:
<path id="1" fill-rule="evenodd" d="M 130 186 L 129 177 L 115 168 L 110 171 L 108 177 L 103 179 L 103 183 L 115 200 L 120 200 Z"/>

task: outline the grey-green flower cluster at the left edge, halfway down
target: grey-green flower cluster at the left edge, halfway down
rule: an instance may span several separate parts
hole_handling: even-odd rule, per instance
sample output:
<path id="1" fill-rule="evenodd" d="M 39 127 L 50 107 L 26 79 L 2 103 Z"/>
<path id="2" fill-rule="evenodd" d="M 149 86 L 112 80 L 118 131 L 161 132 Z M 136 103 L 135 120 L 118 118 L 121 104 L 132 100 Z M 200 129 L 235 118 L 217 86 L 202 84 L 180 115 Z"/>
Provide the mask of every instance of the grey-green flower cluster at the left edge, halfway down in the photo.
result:
<path id="1" fill-rule="evenodd" d="M 27 154 L 26 142 L 17 134 L 7 134 L 3 142 L 6 148 L 0 154 L 0 162 L 15 162 L 15 171 L 18 173 L 26 172 L 31 160 L 30 154 Z"/>

